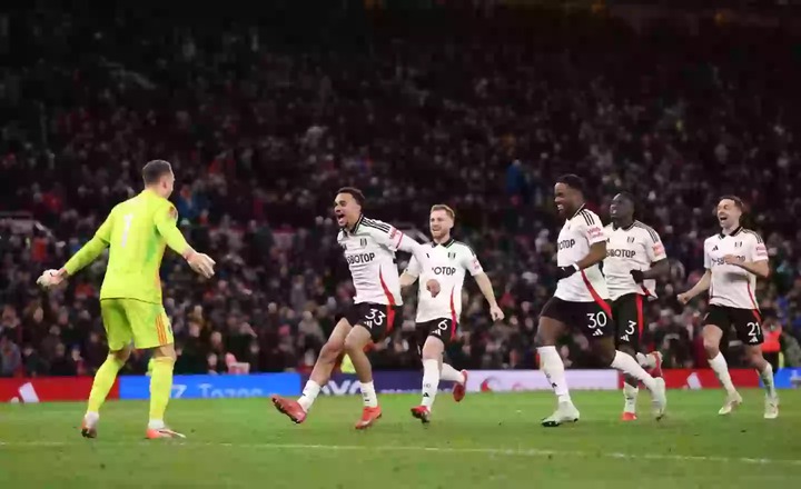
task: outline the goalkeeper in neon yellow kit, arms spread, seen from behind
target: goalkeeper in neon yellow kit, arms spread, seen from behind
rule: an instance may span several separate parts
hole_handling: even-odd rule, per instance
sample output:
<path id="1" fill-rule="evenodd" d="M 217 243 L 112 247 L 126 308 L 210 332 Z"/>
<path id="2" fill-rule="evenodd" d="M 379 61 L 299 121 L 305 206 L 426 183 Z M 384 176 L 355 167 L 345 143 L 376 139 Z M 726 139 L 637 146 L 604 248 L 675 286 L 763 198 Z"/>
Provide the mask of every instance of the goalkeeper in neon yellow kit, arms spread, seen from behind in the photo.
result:
<path id="1" fill-rule="evenodd" d="M 100 289 L 100 311 L 108 335 L 109 356 L 95 376 L 81 433 L 97 437 L 99 409 L 105 402 L 117 372 L 131 352 L 152 349 L 150 378 L 150 421 L 147 438 L 184 438 L 164 422 L 176 360 L 172 329 L 161 302 L 159 267 L 165 247 L 181 255 L 196 272 L 209 278 L 215 262 L 196 252 L 176 227 L 178 213 L 167 200 L 172 193 L 175 176 L 164 160 L 148 162 L 142 169 L 145 190 L 117 204 L 87 242 L 60 270 L 48 270 L 39 285 L 55 287 L 92 262 L 109 249 L 108 268 Z"/>

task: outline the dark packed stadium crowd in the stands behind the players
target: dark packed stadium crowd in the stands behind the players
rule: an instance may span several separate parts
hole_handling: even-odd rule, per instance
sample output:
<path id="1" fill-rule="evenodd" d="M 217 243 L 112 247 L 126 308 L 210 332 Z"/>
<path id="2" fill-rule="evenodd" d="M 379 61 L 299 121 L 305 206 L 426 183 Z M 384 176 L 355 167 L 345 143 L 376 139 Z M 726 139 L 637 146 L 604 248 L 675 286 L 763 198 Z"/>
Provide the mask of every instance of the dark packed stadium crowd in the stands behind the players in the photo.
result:
<path id="1" fill-rule="evenodd" d="M 314 365 L 352 293 L 330 218 L 345 184 L 365 191 L 370 217 L 423 231 L 432 204 L 456 209 L 507 319 L 492 323 L 469 283 L 452 362 L 535 368 L 555 285 L 553 180 L 566 171 L 604 219 L 627 190 L 661 233 L 671 277 L 647 307 L 646 345 L 668 367 L 705 366 L 705 303 L 681 308 L 675 293 L 703 272 L 716 198 L 740 194 L 774 271 L 758 290 L 765 328 L 782 331 L 785 365 L 801 365 L 798 41 L 504 12 L 415 32 L 392 18 L 330 21 L 309 39 L 170 21 L 50 11 L 6 39 L 24 57 L 0 69 L 0 376 L 102 363 L 102 262 L 48 296 L 34 280 L 141 188 L 154 158 L 172 162 L 181 228 L 218 262 L 202 281 L 165 259 L 179 373 Z M 372 350 L 375 368 L 417 368 L 413 296 L 404 328 Z M 562 347 L 568 367 L 593 366 L 581 336 Z M 146 369 L 139 353 L 123 372 Z"/>

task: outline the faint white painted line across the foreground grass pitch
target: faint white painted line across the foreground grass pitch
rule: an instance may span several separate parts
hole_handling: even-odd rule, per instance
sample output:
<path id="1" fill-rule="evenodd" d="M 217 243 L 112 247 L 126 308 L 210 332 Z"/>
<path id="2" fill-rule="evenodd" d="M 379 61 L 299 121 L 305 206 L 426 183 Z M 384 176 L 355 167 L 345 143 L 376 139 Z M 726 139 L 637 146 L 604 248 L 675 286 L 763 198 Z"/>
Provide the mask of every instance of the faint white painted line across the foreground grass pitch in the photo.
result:
<path id="1" fill-rule="evenodd" d="M 69 441 L 0 441 L 3 447 L 86 447 L 90 441 L 76 443 Z M 100 441 L 105 446 L 152 446 L 152 442 L 125 442 L 125 441 Z M 617 460 L 670 460 L 670 461 L 694 461 L 694 462 L 721 462 L 721 463 L 751 463 L 751 465 L 780 465 L 801 467 L 801 460 L 769 459 L 769 458 L 745 458 L 745 457 L 720 457 L 720 456 L 694 456 L 694 455 L 670 455 L 670 453 L 621 453 L 603 451 L 581 450 L 541 450 L 535 448 L 452 448 L 452 447 L 414 447 L 414 446 L 364 446 L 364 445 L 303 445 L 303 443 L 226 443 L 226 442 L 175 442 L 170 446 L 178 447 L 225 447 L 246 449 L 268 450 L 332 450 L 332 451 L 426 451 L 431 453 L 478 453 L 487 456 L 507 457 L 581 457 L 581 458 L 610 458 Z"/>

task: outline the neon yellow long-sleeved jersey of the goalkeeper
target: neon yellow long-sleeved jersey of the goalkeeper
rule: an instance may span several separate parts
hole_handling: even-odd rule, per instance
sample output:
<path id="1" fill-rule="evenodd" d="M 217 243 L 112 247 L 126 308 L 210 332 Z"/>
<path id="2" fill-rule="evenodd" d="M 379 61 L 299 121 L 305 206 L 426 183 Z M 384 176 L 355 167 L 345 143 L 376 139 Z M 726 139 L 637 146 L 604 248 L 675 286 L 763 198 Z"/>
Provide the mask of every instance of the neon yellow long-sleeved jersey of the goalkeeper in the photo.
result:
<path id="1" fill-rule="evenodd" d="M 100 299 L 125 298 L 161 303 L 159 268 L 165 247 L 184 255 L 189 244 L 176 227 L 178 212 L 151 190 L 118 203 L 106 221 L 65 265 L 72 276 L 109 249 Z"/>

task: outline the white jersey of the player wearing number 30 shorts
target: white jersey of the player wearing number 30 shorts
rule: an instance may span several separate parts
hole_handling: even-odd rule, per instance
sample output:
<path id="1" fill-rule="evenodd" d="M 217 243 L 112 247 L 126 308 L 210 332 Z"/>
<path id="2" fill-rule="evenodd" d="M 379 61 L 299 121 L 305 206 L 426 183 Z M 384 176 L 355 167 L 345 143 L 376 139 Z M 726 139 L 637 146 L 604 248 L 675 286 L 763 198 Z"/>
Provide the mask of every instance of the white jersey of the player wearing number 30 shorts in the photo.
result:
<path id="1" fill-rule="evenodd" d="M 556 243 L 556 265 L 570 267 L 590 253 L 590 247 L 603 242 L 606 237 L 601 219 L 583 206 L 562 227 Z M 599 263 L 577 271 L 556 285 L 555 297 L 572 302 L 591 302 L 609 299 L 606 280 Z"/>

